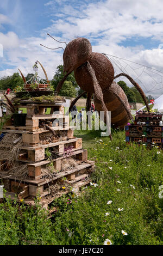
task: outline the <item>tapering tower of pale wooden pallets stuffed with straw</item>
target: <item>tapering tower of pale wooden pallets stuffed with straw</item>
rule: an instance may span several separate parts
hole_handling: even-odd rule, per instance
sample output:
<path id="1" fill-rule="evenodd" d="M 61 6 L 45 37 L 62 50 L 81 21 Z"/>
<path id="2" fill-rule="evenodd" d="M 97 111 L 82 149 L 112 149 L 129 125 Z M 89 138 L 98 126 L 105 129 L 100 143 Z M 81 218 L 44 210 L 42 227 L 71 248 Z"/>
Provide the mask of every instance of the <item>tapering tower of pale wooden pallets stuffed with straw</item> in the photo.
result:
<path id="1" fill-rule="evenodd" d="M 27 204 L 34 204 L 35 198 L 39 198 L 40 204 L 47 209 L 55 198 L 73 188 L 77 192 L 80 187 L 89 184 L 95 163 L 87 161 L 82 138 L 73 136 L 74 127 L 69 126 L 64 115 L 63 102 L 21 101 L 21 105 L 16 107 L 17 111 L 27 108 L 26 126 L 14 126 L 10 119 L 2 132 L 5 135 L 20 135 L 22 143 L 18 162 L 27 166 L 27 175 L 26 178 L 14 175 L 7 178 L 5 171 L 9 166 L 4 159 L 1 160 L 0 176 L 7 196 Z M 46 108 L 51 108 L 50 114 L 46 114 Z M 11 145 L 4 145 L 2 140 L 0 147 L 10 148 Z M 68 166 L 72 161 L 72 166 Z"/>

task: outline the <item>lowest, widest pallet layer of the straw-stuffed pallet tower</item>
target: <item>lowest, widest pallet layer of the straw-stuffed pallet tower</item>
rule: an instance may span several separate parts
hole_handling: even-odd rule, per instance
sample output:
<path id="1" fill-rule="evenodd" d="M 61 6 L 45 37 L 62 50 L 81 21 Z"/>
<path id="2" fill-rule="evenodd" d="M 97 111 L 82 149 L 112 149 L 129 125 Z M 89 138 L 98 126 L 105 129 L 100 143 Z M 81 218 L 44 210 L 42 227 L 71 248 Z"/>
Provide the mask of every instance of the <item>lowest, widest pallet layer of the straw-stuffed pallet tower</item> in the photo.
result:
<path id="1" fill-rule="evenodd" d="M 51 188 L 54 188 L 58 185 L 57 193 L 62 196 L 62 192 L 67 193 L 70 192 L 71 187 L 80 187 L 86 183 L 90 182 L 90 174 L 93 172 L 93 168 L 95 163 L 93 161 L 86 161 L 85 163 L 79 164 L 77 167 L 64 170 L 62 172 L 57 173 L 53 179 L 40 179 L 37 181 L 31 182 L 31 180 L 21 180 L 13 177 L 8 178 L 8 185 L 4 182 L 5 189 L 8 190 L 9 193 L 17 194 L 17 200 L 21 200 L 23 198 L 36 198 L 37 196 L 43 198 L 51 193 Z M 3 176 L 3 175 L 1 175 Z M 66 180 L 62 180 L 65 177 Z M 67 185 L 66 185 L 67 184 Z"/>

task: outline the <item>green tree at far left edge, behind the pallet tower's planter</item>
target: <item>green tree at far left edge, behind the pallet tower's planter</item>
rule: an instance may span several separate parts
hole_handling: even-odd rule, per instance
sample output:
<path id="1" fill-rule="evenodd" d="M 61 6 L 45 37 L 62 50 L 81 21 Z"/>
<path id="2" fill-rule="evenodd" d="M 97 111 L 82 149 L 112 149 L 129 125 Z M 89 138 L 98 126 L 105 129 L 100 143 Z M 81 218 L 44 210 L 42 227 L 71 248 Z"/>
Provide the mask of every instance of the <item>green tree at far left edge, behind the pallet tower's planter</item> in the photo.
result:
<path id="1" fill-rule="evenodd" d="M 17 86 L 22 86 L 23 80 L 18 73 L 14 73 L 12 76 L 2 77 L 0 80 L 0 89 L 6 90 L 10 88 L 13 90 Z"/>

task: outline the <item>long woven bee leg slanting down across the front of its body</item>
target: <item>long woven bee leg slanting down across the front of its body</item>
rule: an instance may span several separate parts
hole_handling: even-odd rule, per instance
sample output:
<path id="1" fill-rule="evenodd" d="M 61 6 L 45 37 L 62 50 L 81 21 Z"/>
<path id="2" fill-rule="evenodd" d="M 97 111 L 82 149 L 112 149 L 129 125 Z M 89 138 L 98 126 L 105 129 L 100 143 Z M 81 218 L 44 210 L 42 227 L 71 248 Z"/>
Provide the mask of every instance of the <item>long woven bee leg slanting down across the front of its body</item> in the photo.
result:
<path id="1" fill-rule="evenodd" d="M 108 109 L 105 106 L 104 98 L 103 98 L 103 92 L 102 92 L 102 89 L 99 86 L 99 83 L 97 81 L 95 71 L 93 70 L 93 68 L 92 68 L 92 66 L 89 62 L 87 62 L 87 71 L 89 72 L 90 77 L 92 79 L 92 84 L 93 84 L 93 87 L 94 87 L 94 90 L 95 90 L 95 95 L 96 95 L 97 99 L 101 102 L 101 106 L 102 106 L 102 109 L 104 111 L 104 117 L 105 117 L 105 120 L 106 120 L 106 125 L 108 127 L 108 132 L 110 134 L 109 137 L 110 137 L 110 140 L 112 141 L 111 130 L 110 130 L 110 125 L 109 125 L 110 120 L 109 120 Z M 107 120 L 108 120 L 108 122 L 107 122 Z"/>

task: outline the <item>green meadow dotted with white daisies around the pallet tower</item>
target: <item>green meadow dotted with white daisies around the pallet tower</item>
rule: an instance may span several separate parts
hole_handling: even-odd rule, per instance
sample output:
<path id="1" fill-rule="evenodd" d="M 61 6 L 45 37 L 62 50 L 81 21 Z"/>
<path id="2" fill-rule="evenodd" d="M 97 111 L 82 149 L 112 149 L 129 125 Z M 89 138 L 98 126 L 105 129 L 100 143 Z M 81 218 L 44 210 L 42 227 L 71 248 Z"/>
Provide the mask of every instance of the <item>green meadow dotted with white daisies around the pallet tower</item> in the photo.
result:
<path id="1" fill-rule="evenodd" d="M 0 244 L 163 245 L 162 152 L 127 145 L 124 131 L 114 131 L 111 142 L 100 131 L 74 134 L 96 162 L 95 184 L 80 197 L 55 200 L 58 211 L 49 220 L 38 202 L 29 208 L 7 199 L 0 204 Z"/>

